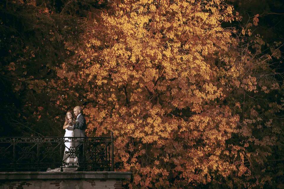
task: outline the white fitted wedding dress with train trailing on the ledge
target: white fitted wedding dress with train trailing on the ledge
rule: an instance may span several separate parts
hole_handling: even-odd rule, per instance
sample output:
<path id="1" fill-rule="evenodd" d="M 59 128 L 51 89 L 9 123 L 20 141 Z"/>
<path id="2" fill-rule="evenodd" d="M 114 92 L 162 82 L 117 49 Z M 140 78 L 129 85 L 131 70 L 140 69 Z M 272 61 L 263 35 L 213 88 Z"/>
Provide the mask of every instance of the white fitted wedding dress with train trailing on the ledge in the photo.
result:
<path id="1" fill-rule="evenodd" d="M 64 137 L 74 137 L 74 129 L 73 127 L 68 127 L 65 129 L 65 135 Z M 63 167 L 63 172 L 72 172 L 72 171 L 76 171 L 79 167 L 79 161 L 78 161 L 78 157 L 72 157 L 72 154 L 75 154 L 75 142 L 72 141 L 72 139 L 68 139 L 65 138 L 64 140 L 68 140 L 68 142 L 65 142 L 65 149 L 64 149 L 64 155 L 63 155 L 63 159 L 62 161 L 65 163 L 68 163 L 67 165 L 62 165 Z M 73 151 L 71 156 L 70 153 L 68 151 Z M 77 166 L 77 167 L 74 167 Z M 60 172 L 61 168 L 55 168 L 55 169 L 50 169 L 48 168 L 46 171 L 47 172 Z"/>

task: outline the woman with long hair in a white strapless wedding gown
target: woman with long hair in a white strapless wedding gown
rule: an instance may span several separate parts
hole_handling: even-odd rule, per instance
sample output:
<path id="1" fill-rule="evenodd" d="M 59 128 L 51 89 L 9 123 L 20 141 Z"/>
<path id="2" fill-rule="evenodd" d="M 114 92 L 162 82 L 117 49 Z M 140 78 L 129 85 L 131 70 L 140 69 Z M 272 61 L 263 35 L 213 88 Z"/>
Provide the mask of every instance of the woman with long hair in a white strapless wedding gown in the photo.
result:
<path id="1" fill-rule="evenodd" d="M 71 111 L 68 111 L 65 116 L 65 123 L 63 126 L 63 129 L 65 129 L 65 135 L 64 137 L 74 137 L 74 128 L 71 126 L 71 123 L 75 123 L 74 116 Z M 64 155 L 62 161 L 67 163 L 63 164 L 63 171 L 76 171 L 79 167 L 78 164 L 78 157 L 75 156 L 75 143 L 72 141 L 72 139 L 64 138 L 64 140 L 67 142 L 64 143 L 65 149 L 64 149 Z M 71 153 L 70 153 L 71 151 Z M 77 167 L 74 167 L 77 166 Z M 50 168 L 47 169 L 47 172 L 58 172 L 61 168 L 56 168 L 51 170 Z"/>

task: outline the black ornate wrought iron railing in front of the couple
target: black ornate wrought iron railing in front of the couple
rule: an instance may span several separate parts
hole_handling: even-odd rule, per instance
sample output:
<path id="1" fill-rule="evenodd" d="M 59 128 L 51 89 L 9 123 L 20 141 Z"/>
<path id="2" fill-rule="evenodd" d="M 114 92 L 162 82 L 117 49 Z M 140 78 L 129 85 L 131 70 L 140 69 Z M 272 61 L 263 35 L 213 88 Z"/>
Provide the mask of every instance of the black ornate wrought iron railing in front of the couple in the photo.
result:
<path id="1" fill-rule="evenodd" d="M 113 148 L 113 133 L 111 137 L 0 137 L 0 171 L 114 171 Z"/>

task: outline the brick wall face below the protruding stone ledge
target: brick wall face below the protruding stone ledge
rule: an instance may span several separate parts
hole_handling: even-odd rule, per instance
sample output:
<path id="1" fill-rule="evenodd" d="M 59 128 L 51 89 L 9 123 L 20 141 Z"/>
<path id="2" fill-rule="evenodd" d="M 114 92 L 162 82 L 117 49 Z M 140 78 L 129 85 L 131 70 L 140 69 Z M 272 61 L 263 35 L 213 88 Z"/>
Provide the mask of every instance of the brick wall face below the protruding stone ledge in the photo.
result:
<path id="1" fill-rule="evenodd" d="M 28 179 L 0 182 L 0 189 L 122 189 L 120 179 Z"/>

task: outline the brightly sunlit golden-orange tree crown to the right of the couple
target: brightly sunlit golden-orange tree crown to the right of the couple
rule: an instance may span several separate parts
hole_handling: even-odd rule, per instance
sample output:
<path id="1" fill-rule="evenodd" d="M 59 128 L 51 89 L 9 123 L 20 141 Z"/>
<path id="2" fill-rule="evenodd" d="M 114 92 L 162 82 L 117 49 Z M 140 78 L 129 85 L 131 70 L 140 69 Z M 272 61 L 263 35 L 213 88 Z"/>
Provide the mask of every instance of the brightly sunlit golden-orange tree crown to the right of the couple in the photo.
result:
<path id="1" fill-rule="evenodd" d="M 251 137 L 243 94 L 260 92 L 252 74 L 268 68 L 252 65 L 235 29 L 221 27 L 236 19 L 218 0 L 113 1 L 87 26 L 69 77 L 86 90 L 89 129 L 114 132 L 130 188 L 231 186 L 229 175 L 251 176 L 245 139 L 231 139 Z"/>

